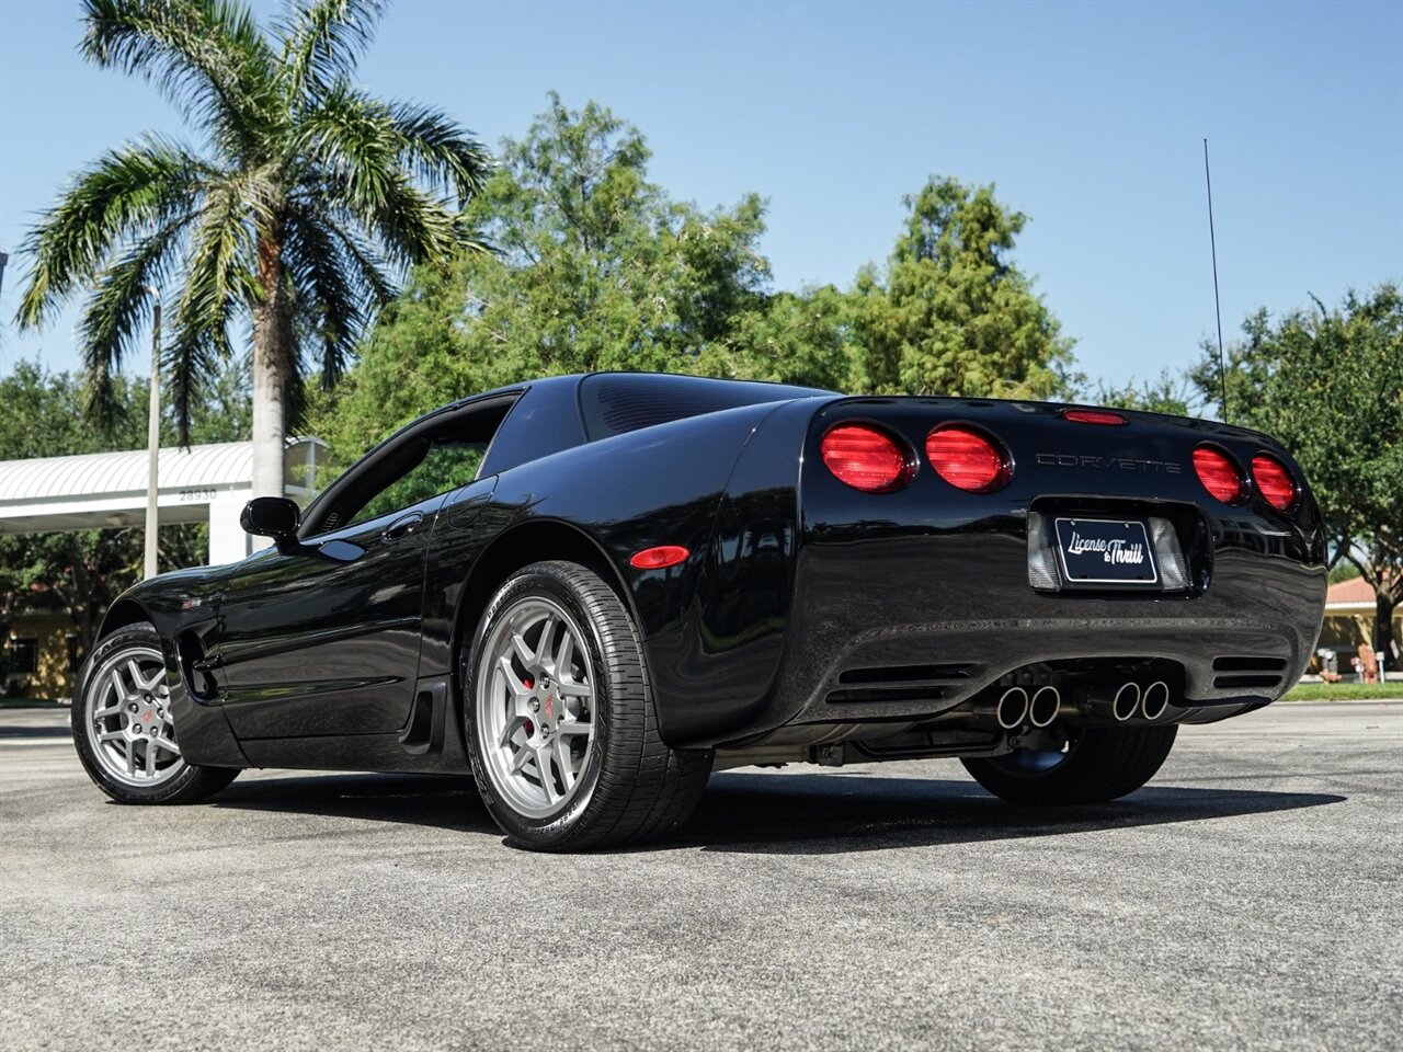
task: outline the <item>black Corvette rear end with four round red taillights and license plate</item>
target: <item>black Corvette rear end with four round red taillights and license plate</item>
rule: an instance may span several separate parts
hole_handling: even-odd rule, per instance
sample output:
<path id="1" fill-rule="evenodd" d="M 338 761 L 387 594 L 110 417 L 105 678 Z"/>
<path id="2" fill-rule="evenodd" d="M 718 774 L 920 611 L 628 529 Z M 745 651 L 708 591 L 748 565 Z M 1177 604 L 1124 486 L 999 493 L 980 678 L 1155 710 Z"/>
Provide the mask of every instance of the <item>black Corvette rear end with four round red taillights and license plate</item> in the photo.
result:
<path id="1" fill-rule="evenodd" d="M 1221 718 L 1296 680 L 1324 605 L 1289 454 L 1159 414 L 828 401 L 796 541 L 767 727 Z"/>

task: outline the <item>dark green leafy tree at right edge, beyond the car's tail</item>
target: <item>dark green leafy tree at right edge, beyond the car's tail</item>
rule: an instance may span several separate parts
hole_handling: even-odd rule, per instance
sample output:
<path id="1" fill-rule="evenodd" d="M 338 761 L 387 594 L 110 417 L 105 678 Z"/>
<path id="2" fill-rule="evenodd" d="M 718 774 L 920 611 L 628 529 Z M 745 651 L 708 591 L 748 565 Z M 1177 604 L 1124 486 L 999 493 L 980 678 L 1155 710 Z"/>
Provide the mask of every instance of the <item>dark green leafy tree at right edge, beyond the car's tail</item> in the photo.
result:
<path id="1" fill-rule="evenodd" d="M 1374 648 L 1393 649 L 1403 602 L 1403 293 L 1383 283 L 1319 300 L 1273 324 L 1266 310 L 1229 348 L 1228 411 L 1289 449 L 1320 504 L 1331 565 L 1352 562 L 1376 595 Z M 1204 348 L 1193 380 L 1218 398 L 1218 355 Z"/>

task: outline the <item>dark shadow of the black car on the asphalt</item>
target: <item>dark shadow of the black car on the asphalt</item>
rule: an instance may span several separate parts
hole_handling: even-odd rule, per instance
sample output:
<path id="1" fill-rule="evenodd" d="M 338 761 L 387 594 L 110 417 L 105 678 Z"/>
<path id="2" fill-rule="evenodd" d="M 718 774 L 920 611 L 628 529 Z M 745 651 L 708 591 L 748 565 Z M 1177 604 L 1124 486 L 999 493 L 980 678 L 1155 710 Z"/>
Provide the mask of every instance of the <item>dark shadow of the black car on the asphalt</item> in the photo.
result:
<path id="1" fill-rule="evenodd" d="M 633 850 L 842 854 L 1200 822 L 1344 800 L 1331 793 L 1149 785 L 1110 804 L 1019 808 L 965 780 L 725 771 L 711 778 L 696 815 L 676 836 Z M 499 835 L 467 777 L 258 778 L 234 783 L 212 804 Z"/>

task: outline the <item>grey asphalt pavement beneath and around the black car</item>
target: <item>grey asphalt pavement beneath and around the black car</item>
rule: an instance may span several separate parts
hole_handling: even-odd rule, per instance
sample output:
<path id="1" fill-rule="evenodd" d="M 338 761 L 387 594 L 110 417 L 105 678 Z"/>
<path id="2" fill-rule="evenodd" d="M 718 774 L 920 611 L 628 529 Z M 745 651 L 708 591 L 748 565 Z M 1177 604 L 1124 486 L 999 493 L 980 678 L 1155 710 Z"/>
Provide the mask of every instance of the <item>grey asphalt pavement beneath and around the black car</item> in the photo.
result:
<path id="1" fill-rule="evenodd" d="M 673 842 L 537 856 L 457 778 L 119 807 L 0 711 L 0 1048 L 1397 1049 L 1400 746 L 1400 703 L 1274 706 L 1051 812 L 727 771 Z"/>

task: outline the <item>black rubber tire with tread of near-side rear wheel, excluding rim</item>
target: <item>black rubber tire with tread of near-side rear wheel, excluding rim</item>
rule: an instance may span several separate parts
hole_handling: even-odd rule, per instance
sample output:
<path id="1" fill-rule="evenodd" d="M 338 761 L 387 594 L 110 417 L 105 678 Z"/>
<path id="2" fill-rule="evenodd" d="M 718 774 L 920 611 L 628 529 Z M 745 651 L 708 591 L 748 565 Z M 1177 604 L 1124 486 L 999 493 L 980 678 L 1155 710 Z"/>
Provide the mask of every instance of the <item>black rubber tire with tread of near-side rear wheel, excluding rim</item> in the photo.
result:
<path id="1" fill-rule="evenodd" d="M 492 694 L 483 682 L 483 662 L 499 662 L 491 644 L 511 631 L 506 619 L 536 602 L 554 603 L 581 630 L 581 673 L 593 692 L 588 715 L 593 732 L 584 746 L 578 784 L 558 814 L 532 816 L 508 791 L 494 784 L 485 757 L 484 720 L 491 718 Z M 567 626 L 568 627 L 568 626 Z M 540 628 L 542 633 L 546 628 Z M 540 644 L 536 644 L 540 652 Z M 588 661 L 588 669 L 582 662 Z M 490 677 L 492 670 L 485 675 Z M 536 851 L 579 851 L 592 847 L 638 844 L 666 836 L 685 822 L 711 774 L 711 750 L 669 749 L 658 735 L 652 686 L 633 617 L 617 593 L 592 569 L 574 562 L 537 562 L 509 576 L 492 596 L 464 654 L 464 727 L 483 802 L 511 843 Z M 523 680 L 523 685 L 526 680 Z M 557 686 L 560 686 L 557 683 Z M 515 690 L 515 687 L 512 687 Z M 480 704 L 487 713 L 478 718 Z M 564 687 L 560 700 L 564 704 Z M 561 727 L 560 717 L 557 731 Z M 532 732 L 529 721 L 521 727 Z M 499 745 L 498 749 L 513 748 Z M 543 746 L 544 748 L 544 746 Z M 528 760 L 530 763 L 530 760 Z M 539 762 L 536 764 L 539 770 Z M 494 770 L 498 777 L 501 762 Z M 550 763 L 547 773 L 558 771 Z M 563 783 L 558 783 L 563 784 Z"/>

